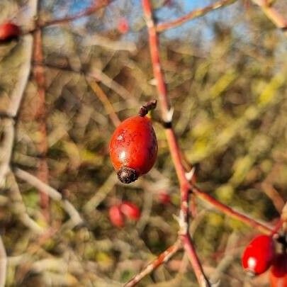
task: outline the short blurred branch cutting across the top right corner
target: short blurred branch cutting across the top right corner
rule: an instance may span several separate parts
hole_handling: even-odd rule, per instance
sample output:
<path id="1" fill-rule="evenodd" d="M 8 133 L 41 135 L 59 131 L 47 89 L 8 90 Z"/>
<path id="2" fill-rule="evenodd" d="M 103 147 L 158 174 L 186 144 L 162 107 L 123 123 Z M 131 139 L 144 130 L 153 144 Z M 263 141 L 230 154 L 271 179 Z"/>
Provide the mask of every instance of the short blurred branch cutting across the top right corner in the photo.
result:
<path id="1" fill-rule="evenodd" d="M 284 35 L 287 36 L 287 19 L 284 18 L 281 13 L 278 13 L 276 9 L 266 0 L 252 0 L 254 4 L 257 4 L 264 12 L 267 18 L 274 23 L 274 25 L 283 30 Z"/>

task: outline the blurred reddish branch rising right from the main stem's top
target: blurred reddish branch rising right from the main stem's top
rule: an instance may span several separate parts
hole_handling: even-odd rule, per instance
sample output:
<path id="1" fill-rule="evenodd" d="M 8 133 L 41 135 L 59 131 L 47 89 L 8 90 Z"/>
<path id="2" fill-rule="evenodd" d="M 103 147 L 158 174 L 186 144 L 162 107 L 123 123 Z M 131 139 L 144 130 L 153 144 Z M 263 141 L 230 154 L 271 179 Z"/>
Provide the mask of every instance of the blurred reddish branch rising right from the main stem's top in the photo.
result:
<path id="1" fill-rule="evenodd" d="M 216 9 L 220 9 L 223 8 L 227 5 L 233 4 L 235 1 L 237 0 L 220 0 L 220 1 L 216 1 L 213 4 L 210 4 L 206 7 L 203 7 L 201 9 L 196 9 L 191 11 L 190 13 L 187 13 L 186 15 L 177 18 L 174 21 L 170 21 L 167 23 L 161 23 L 161 24 L 157 24 L 156 29 L 157 32 L 162 32 L 164 30 L 168 30 L 171 28 L 176 28 L 178 26 L 181 26 L 182 24 L 186 23 L 187 21 L 191 21 L 194 18 L 198 18 L 198 17 L 202 17 L 204 15 L 206 15 L 206 13 L 216 10 Z"/>

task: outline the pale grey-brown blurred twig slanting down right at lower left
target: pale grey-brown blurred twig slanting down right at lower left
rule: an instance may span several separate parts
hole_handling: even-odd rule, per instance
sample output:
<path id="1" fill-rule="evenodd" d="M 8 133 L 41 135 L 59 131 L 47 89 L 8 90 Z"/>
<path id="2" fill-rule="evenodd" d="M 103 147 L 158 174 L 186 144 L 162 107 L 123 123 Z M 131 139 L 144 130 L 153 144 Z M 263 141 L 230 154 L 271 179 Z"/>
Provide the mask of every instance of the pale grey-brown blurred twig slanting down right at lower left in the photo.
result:
<path id="1" fill-rule="evenodd" d="M 74 208 L 72 203 L 70 203 L 67 199 L 64 199 L 62 194 L 55 188 L 45 184 L 36 176 L 33 176 L 32 174 L 29 174 L 27 171 L 23 171 L 22 169 L 16 168 L 14 169 L 14 173 L 19 179 L 22 179 L 31 186 L 38 188 L 38 190 L 45 192 L 50 198 L 54 199 L 55 201 L 60 201 L 60 203 L 62 203 L 62 208 L 64 208 L 64 210 L 69 214 L 71 220 L 74 223 L 74 226 L 84 223 L 84 220 L 79 215 L 77 209 Z"/>

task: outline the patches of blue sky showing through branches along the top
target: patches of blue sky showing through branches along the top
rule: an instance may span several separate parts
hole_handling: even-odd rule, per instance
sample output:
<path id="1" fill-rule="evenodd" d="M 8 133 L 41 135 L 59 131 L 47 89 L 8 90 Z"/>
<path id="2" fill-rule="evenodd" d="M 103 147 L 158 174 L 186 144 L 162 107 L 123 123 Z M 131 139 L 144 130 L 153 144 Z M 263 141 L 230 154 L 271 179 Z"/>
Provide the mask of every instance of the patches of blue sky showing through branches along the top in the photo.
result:
<path id="1" fill-rule="evenodd" d="M 52 7 L 55 17 L 64 16 L 73 13 L 77 13 L 86 7 L 89 7 L 92 3 L 92 1 L 96 0 L 72 0 L 67 2 L 67 6 L 64 7 L 64 9 L 61 11 L 62 4 L 59 6 L 55 5 Z M 169 8 L 164 7 L 162 9 L 159 9 L 157 11 L 157 17 L 160 19 L 160 21 L 170 21 L 174 18 L 178 18 L 179 16 L 183 16 L 184 14 L 193 11 L 194 9 L 198 9 L 204 6 L 207 6 L 208 4 L 214 3 L 215 0 L 173 0 L 175 4 L 178 4 L 178 6 L 181 7 L 181 11 L 179 11 L 176 8 Z M 125 14 L 125 5 L 130 4 L 132 2 L 132 11 L 130 13 Z M 57 3 L 57 1 L 56 1 Z M 234 11 L 234 6 L 237 4 L 233 4 L 229 7 L 226 7 L 224 9 L 224 14 L 222 11 L 217 10 L 213 11 L 211 13 L 208 13 L 208 15 L 204 16 L 203 18 L 197 18 L 193 21 L 188 21 L 188 23 L 185 23 L 183 26 L 180 26 L 179 28 L 171 29 L 164 33 L 164 36 L 167 38 L 177 38 L 179 35 L 186 35 L 186 33 L 190 33 L 191 30 L 195 31 L 198 29 L 198 33 L 201 34 L 202 38 L 206 40 L 210 40 L 210 37 L 212 37 L 212 30 L 209 28 L 210 26 L 206 25 L 206 21 L 214 21 L 215 19 L 218 20 L 224 20 L 228 17 L 232 17 L 232 13 L 230 11 Z M 133 26 L 136 26 L 140 19 L 142 19 L 142 10 L 141 10 L 141 1 L 140 0 L 115 0 L 113 4 L 111 5 L 111 13 L 107 13 L 107 18 L 105 21 L 107 28 L 116 28 L 116 25 L 118 23 L 118 19 L 120 17 L 128 18 L 128 21 L 130 21 L 130 24 L 132 26 L 131 30 L 136 30 L 136 28 L 133 29 Z M 113 14 L 114 13 L 114 14 Z M 116 14 L 116 16 L 115 16 Z M 74 22 L 75 25 L 83 25 L 86 23 L 86 18 L 81 18 Z M 130 38 L 134 37 L 135 34 L 131 33 L 130 35 L 125 35 L 124 37 Z"/>

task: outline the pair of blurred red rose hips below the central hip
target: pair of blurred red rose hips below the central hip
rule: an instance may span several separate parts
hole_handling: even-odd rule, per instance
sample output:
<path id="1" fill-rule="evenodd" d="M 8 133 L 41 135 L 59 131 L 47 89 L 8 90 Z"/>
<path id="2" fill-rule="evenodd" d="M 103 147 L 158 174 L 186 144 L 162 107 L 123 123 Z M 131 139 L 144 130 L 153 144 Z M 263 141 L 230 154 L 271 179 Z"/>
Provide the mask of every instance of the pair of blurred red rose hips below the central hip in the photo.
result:
<path id="1" fill-rule="evenodd" d="M 140 219 L 140 208 L 130 201 L 123 201 L 120 204 L 111 206 L 108 215 L 113 225 L 123 227 L 125 226 L 125 218 L 135 221 Z"/>

